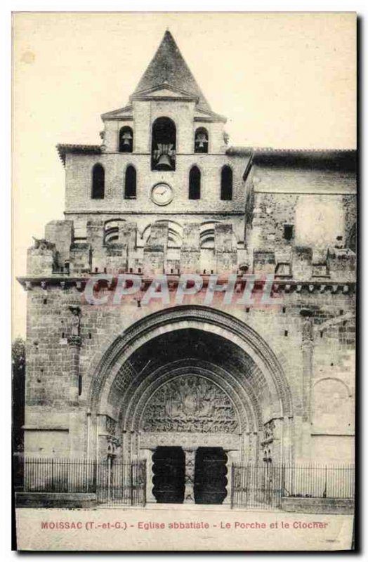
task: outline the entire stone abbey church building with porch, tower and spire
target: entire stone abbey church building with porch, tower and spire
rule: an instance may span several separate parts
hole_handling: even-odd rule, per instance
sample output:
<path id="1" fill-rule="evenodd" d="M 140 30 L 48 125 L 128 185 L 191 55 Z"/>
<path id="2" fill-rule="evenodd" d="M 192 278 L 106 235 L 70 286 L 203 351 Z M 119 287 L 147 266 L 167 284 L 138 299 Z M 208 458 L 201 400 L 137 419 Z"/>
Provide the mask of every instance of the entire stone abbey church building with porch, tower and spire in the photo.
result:
<path id="1" fill-rule="evenodd" d="M 102 119 L 100 145 L 58 145 L 65 220 L 20 278 L 25 455 L 147 459 L 150 478 L 165 450 L 186 472 L 199 450 L 353 462 L 355 152 L 230 146 L 170 32 Z M 140 287 L 116 302 L 119 274 Z M 202 287 L 178 303 L 183 274 Z M 155 275 L 170 299 L 145 305 Z M 215 275 L 230 303 L 206 303 Z M 254 302 L 237 303 L 249 280 Z"/>

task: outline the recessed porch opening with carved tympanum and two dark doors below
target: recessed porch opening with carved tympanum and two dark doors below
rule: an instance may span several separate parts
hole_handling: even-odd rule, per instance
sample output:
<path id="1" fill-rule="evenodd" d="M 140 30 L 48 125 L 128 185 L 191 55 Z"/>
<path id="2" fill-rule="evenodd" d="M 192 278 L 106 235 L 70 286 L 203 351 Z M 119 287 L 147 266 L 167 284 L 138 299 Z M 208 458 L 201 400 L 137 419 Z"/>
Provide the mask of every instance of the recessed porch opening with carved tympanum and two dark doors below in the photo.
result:
<path id="1" fill-rule="evenodd" d="M 137 348 L 121 365 L 108 405 L 121 454 L 150 465 L 152 501 L 221 504 L 231 455 L 259 460 L 258 436 L 275 396 L 242 348 L 185 328 Z"/>

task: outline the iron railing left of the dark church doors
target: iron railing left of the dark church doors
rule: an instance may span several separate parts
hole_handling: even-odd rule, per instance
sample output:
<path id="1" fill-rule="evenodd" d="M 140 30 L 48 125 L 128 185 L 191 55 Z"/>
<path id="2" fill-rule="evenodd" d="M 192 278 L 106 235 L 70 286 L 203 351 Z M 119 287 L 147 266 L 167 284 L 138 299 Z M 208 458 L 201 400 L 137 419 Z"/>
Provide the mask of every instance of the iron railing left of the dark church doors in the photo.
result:
<path id="1" fill-rule="evenodd" d="M 145 504 L 145 461 L 15 457 L 15 490 L 96 493 L 99 502 Z"/>

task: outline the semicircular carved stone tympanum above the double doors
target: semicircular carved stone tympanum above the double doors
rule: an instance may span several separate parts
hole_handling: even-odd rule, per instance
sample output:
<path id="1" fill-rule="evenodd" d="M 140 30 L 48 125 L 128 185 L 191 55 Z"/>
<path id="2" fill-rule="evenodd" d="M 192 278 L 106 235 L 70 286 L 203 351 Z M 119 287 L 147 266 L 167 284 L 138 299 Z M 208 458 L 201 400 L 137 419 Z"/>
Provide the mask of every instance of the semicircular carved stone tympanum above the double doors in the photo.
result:
<path id="1" fill-rule="evenodd" d="M 143 431 L 235 433 L 235 408 L 216 384 L 204 377 L 185 375 L 161 386 L 143 412 Z"/>

